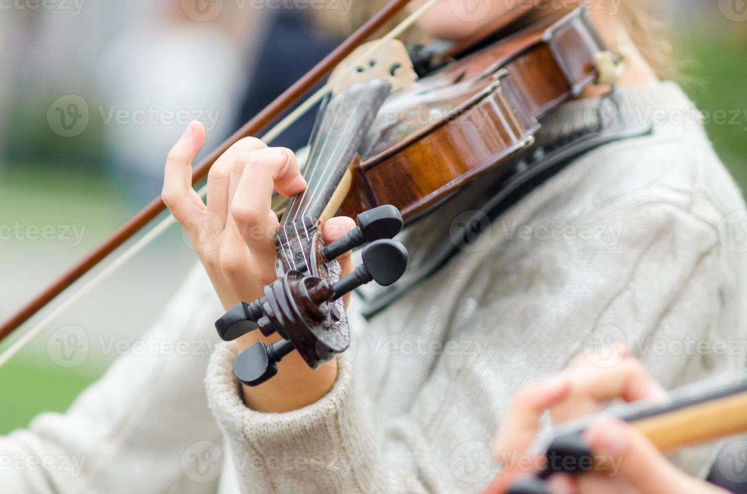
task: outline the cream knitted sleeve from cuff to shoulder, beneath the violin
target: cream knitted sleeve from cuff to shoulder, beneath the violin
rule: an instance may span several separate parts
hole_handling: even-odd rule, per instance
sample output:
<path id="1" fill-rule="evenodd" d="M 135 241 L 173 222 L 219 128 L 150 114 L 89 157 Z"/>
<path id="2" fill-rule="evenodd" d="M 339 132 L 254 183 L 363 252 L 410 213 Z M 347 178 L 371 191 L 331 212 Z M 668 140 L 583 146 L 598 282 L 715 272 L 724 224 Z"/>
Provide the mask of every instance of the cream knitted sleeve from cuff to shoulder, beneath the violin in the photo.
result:
<path id="1" fill-rule="evenodd" d="M 678 346 L 740 340 L 745 323 L 746 264 L 719 237 L 743 202 L 693 149 L 709 148 L 667 137 L 578 160 L 373 319 L 330 393 L 301 410 L 247 408 L 235 350 L 220 346 L 208 398 L 242 492 L 479 492 L 518 388 L 595 342 L 628 346 L 666 387 L 742 366 L 742 350 Z M 405 351 L 421 340 L 441 351 Z M 679 464 L 703 475 L 712 460 L 713 448 Z"/>

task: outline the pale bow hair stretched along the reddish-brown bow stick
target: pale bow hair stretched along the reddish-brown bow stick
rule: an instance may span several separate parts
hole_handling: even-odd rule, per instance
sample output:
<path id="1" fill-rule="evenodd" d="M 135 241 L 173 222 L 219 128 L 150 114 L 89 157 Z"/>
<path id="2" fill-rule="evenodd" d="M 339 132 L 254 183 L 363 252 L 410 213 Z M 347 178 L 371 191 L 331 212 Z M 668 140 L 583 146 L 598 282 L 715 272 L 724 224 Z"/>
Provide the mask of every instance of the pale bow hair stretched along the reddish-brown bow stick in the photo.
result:
<path id="1" fill-rule="evenodd" d="M 417 21 L 430 7 L 433 7 L 433 5 L 438 1 L 440 0 L 428 0 L 380 39 L 391 40 L 394 39 L 394 37 L 399 36 L 403 31 L 413 25 L 415 21 Z M 371 52 L 373 52 L 373 50 L 371 50 Z M 366 52 L 365 55 L 368 54 L 370 53 Z M 311 107 L 314 107 L 314 104 L 322 99 L 330 88 L 331 85 L 328 81 L 323 87 L 317 90 L 316 93 L 299 104 L 295 110 L 291 111 L 291 113 L 288 113 L 285 118 L 281 119 L 280 122 L 273 126 L 273 128 L 270 128 L 269 131 L 262 135 L 261 139 L 264 141 L 264 143 L 266 143 L 267 145 L 272 143 L 272 141 L 275 140 L 276 137 L 278 137 L 291 125 L 293 125 L 298 119 L 300 119 L 301 116 L 309 111 Z M 204 185 L 197 191 L 197 193 L 200 197 L 205 198 L 207 190 L 207 185 Z M 105 266 L 98 274 L 93 276 L 93 278 L 90 278 L 90 280 L 85 282 L 84 284 L 81 284 L 81 287 L 77 291 L 73 292 L 68 298 L 64 299 L 57 307 L 50 310 L 49 314 L 46 317 L 37 322 L 36 325 L 32 326 L 28 331 L 25 332 L 25 334 L 22 335 L 22 337 L 19 337 L 19 339 L 11 344 L 6 350 L 2 351 L 2 353 L 0 353 L 0 367 L 4 366 L 4 364 L 7 363 L 8 360 L 13 358 L 19 351 L 21 351 L 24 346 L 31 342 L 31 340 L 34 340 L 34 337 L 37 337 L 38 334 L 40 334 L 45 328 L 51 325 L 52 322 L 54 322 L 55 319 L 58 318 L 58 316 L 61 316 L 61 314 L 63 314 L 66 310 L 75 305 L 78 300 L 83 298 L 83 296 L 85 296 L 87 293 L 90 293 L 91 290 L 101 284 L 102 281 L 105 281 L 105 279 L 109 278 L 109 276 L 114 274 L 114 272 L 117 272 L 117 270 L 120 269 L 120 267 L 124 266 L 128 260 L 134 257 L 134 255 L 138 252 L 142 251 L 143 248 L 149 246 L 154 240 L 160 237 L 161 234 L 164 233 L 164 231 L 167 231 L 170 226 L 176 224 L 176 219 L 174 219 L 173 215 L 169 214 L 164 217 L 164 219 L 161 219 L 161 221 L 158 222 L 153 228 L 143 234 L 143 237 L 140 237 L 140 239 L 132 243 L 131 246 L 125 248 L 125 250 L 121 254 L 119 254 L 117 257 L 114 257 L 111 263 Z"/>

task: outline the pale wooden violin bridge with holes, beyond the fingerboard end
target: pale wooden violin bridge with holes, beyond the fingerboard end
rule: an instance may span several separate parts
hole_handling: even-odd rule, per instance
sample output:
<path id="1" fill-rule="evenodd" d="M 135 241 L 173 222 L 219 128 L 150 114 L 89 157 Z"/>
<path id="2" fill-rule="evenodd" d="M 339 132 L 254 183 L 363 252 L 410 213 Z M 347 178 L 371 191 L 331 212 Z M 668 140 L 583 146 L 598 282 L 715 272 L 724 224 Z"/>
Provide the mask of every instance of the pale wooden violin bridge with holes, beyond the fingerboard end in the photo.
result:
<path id="1" fill-rule="evenodd" d="M 407 49 L 399 40 L 375 40 L 359 46 L 329 75 L 332 93 L 372 79 L 389 81 L 391 91 L 412 90 L 418 74 Z"/>

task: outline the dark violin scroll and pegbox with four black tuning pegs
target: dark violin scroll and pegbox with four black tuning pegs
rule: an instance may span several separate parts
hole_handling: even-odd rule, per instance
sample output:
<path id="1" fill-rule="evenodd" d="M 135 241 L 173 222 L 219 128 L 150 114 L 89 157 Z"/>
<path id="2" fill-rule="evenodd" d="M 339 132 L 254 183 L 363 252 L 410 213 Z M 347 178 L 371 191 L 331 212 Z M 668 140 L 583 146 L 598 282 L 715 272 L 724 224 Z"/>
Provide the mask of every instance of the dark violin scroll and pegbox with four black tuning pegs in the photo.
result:
<path id="1" fill-rule="evenodd" d="M 396 207 L 385 205 L 361 213 L 359 225 L 341 239 L 324 245 L 315 231 L 310 248 L 324 263 L 352 248 L 368 243 L 362 251 L 363 263 L 350 275 L 339 279 L 309 266 L 296 266 L 264 289 L 265 296 L 250 304 L 239 302 L 215 322 L 223 340 L 235 340 L 258 329 L 269 337 L 282 339 L 271 345 L 255 343 L 235 360 L 234 373 L 247 386 L 257 386 L 276 375 L 277 363 L 291 351 L 298 351 L 311 367 L 332 360 L 350 345 L 350 329 L 341 298 L 371 281 L 388 286 L 397 281 L 407 266 L 407 251 L 389 240 L 402 229 L 402 216 Z M 309 252 L 311 254 L 311 251 Z M 336 274 L 336 273 L 335 273 Z"/>

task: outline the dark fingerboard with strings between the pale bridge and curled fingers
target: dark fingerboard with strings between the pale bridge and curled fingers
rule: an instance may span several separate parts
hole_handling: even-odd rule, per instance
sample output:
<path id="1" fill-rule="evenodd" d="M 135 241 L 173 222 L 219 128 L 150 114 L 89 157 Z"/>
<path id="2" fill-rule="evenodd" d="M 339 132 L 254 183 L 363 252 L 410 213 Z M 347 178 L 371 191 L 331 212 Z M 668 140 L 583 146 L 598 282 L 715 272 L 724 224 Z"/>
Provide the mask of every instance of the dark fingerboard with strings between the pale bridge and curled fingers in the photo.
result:
<path id="1" fill-rule="evenodd" d="M 281 231 L 308 231 L 326 219 L 326 211 L 337 210 L 330 201 L 338 196 L 335 191 L 344 184 L 347 169 L 390 90 L 391 84 L 379 79 L 356 84 L 333 95 L 320 110 L 304 172 L 306 190 L 288 205 Z"/>

